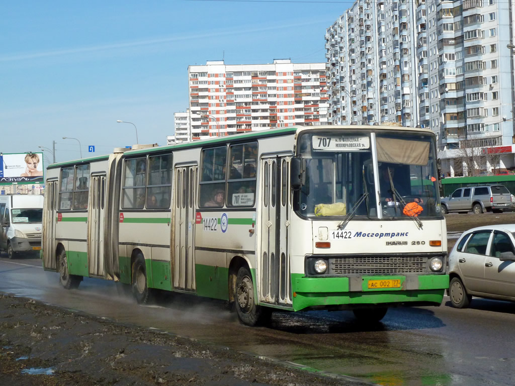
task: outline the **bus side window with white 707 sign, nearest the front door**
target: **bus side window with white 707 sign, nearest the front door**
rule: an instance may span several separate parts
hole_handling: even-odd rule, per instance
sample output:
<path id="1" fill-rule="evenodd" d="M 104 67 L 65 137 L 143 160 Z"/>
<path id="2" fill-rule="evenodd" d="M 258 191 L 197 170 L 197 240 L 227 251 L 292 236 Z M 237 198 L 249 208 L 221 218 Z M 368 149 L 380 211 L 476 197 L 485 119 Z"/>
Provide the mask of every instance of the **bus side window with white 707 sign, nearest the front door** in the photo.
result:
<path id="1" fill-rule="evenodd" d="M 254 206 L 258 143 L 233 145 L 229 148 L 227 206 Z"/>

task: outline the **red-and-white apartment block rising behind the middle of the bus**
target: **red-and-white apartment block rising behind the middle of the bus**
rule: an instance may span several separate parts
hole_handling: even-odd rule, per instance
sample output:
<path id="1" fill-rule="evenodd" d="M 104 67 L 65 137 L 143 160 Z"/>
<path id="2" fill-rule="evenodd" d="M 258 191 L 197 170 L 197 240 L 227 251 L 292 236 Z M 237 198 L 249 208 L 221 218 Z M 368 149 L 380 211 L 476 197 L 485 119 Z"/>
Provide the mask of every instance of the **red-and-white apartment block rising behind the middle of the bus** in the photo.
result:
<path id="1" fill-rule="evenodd" d="M 191 139 L 327 125 L 325 63 L 188 66 Z M 177 133 L 176 133 L 177 136 Z"/>

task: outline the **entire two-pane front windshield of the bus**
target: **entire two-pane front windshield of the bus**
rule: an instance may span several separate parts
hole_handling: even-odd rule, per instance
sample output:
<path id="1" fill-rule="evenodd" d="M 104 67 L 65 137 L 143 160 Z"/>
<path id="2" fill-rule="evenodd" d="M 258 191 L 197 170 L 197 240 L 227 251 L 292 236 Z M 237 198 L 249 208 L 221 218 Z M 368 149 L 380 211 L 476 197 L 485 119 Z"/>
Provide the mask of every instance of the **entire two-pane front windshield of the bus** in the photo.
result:
<path id="1" fill-rule="evenodd" d="M 299 138 L 298 155 L 303 182 L 294 202 L 303 216 L 372 219 L 379 217 L 378 207 L 382 218 L 441 216 L 431 135 L 392 131 L 374 138 L 363 131 L 306 132 Z"/>

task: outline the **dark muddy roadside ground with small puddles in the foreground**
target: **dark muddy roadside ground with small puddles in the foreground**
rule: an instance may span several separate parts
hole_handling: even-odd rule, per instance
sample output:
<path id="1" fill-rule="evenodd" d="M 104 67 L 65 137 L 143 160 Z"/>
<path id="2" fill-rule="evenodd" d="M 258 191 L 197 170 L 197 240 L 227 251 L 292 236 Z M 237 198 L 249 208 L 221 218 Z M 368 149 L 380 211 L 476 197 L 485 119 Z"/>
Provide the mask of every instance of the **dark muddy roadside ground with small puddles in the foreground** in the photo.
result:
<path id="1" fill-rule="evenodd" d="M 43 374 L 31 375 L 38 371 Z M 0 294 L 0 384 L 366 383 L 324 377 L 228 348 Z"/>

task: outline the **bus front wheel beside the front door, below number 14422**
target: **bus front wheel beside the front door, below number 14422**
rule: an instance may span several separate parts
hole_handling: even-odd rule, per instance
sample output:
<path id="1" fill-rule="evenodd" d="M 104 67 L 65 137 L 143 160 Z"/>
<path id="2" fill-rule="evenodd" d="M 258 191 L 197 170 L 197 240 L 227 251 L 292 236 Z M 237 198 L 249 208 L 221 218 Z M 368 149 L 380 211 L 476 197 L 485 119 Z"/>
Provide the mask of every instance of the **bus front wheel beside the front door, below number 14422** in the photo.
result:
<path id="1" fill-rule="evenodd" d="M 239 320 L 247 326 L 261 324 L 271 314 L 271 309 L 268 307 L 261 307 L 255 304 L 254 283 L 252 282 L 252 275 L 247 267 L 242 267 L 238 270 L 234 305 Z"/>

